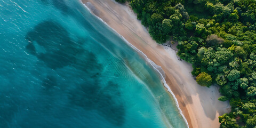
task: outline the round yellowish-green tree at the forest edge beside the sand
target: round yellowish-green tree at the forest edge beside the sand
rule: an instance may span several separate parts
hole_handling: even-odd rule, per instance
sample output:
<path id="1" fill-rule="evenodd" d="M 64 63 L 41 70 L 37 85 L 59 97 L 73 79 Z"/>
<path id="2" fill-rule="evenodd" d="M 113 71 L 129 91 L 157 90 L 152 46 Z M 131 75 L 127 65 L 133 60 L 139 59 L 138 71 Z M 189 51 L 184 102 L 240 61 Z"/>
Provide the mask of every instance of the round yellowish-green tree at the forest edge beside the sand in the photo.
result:
<path id="1" fill-rule="evenodd" d="M 210 87 L 212 84 L 212 77 L 211 75 L 203 72 L 196 77 L 196 82 L 201 86 Z"/>

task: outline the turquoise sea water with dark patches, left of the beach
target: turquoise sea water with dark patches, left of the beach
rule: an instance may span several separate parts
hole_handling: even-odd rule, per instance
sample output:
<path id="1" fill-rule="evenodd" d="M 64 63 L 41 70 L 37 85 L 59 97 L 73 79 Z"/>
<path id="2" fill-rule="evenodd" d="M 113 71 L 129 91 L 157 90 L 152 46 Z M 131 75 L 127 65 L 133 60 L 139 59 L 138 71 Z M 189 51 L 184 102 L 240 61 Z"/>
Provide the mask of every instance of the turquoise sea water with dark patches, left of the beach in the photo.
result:
<path id="1" fill-rule="evenodd" d="M 149 63 L 78 0 L 0 0 L 0 127 L 186 127 Z"/>

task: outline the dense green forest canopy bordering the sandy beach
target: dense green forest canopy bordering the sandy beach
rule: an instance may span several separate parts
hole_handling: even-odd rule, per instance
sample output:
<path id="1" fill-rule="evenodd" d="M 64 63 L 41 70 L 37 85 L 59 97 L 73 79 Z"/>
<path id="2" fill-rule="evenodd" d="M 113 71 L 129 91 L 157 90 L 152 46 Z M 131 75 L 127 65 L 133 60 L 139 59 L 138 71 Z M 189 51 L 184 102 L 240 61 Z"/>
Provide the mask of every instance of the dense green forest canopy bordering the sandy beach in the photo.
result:
<path id="1" fill-rule="evenodd" d="M 116 0 L 124 3 L 125 0 Z M 220 85 L 220 127 L 256 127 L 256 1 L 130 0 L 157 43 L 178 41 L 198 84 Z"/>

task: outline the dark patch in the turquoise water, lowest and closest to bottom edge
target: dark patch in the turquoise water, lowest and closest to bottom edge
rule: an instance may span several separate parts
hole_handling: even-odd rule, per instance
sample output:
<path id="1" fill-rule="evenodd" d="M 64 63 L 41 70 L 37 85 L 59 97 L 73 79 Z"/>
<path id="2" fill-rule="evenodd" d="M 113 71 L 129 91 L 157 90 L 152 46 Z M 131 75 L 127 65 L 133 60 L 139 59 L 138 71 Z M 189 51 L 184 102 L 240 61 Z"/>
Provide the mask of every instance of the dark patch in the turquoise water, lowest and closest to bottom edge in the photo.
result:
<path id="1" fill-rule="evenodd" d="M 114 82 L 108 82 L 103 88 L 97 82 L 84 83 L 70 95 L 70 101 L 74 105 L 87 110 L 97 110 L 100 115 L 117 126 L 124 124 L 125 109 L 122 101 L 118 100 L 120 92 Z"/>

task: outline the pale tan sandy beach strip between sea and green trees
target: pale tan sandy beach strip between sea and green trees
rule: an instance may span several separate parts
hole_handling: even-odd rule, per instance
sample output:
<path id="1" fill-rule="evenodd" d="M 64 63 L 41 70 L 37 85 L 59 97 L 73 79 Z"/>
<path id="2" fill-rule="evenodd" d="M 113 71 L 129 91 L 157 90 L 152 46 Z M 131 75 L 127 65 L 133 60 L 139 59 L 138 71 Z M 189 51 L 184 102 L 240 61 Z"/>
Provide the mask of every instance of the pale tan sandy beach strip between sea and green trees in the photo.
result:
<path id="1" fill-rule="evenodd" d="M 158 45 L 153 41 L 127 3 L 122 5 L 113 0 L 82 2 L 89 4 L 95 15 L 145 53 L 156 65 L 162 67 L 165 81 L 177 98 L 189 127 L 219 127 L 218 116 L 230 111 L 230 106 L 227 101 L 218 101 L 218 86 L 207 88 L 198 85 L 190 73 L 192 66 L 183 60 L 180 61 L 170 47 Z"/>

